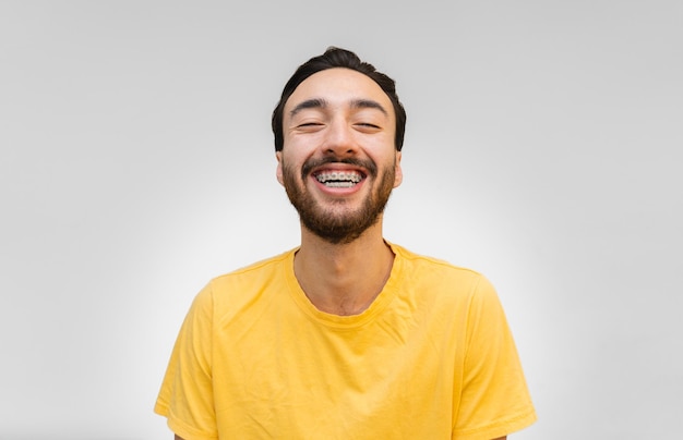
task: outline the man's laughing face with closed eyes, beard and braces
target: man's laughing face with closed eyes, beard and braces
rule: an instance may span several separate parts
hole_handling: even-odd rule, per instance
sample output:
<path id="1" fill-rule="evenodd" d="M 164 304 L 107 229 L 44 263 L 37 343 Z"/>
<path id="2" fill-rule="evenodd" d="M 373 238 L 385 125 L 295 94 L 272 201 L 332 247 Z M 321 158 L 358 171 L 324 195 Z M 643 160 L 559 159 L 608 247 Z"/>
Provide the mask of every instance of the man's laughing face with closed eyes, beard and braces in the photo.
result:
<path id="1" fill-rule="evenodd" d="M 303 81 L 285 105 L 277 180 L 303 225 L 349 243 L 375 224 L 400 184 L 396 117 L 362 73 L 328 69 Z"/>

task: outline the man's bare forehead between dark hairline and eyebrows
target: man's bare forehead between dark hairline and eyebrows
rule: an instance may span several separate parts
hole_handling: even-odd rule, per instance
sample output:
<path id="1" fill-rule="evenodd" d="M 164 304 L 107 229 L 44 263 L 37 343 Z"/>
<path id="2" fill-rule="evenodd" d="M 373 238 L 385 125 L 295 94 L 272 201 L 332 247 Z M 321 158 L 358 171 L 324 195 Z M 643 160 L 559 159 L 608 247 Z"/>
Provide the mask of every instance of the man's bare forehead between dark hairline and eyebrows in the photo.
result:
<path id="1" fill-rule="evenodd" d="M 350 69 L 327 69 L 305 78 L 287 99 L 285 118 L 292 108 L 309 99 L 323 99 L 333 107 L 348 106 L 360 99 L 373 100 L 394 117 L 392 101 L 382 87 L 369 76 Z"/>

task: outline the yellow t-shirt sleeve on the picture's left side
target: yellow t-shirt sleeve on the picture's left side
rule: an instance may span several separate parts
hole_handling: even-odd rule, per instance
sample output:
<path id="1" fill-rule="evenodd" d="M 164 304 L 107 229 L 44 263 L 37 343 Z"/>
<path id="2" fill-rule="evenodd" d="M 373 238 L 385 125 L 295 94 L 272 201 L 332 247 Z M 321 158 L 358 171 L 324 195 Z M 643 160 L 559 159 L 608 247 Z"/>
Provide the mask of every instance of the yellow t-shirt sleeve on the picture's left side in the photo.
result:
<path id="1" fill-rule="evenodd" d="M 154 407 L 184 440 L 218 438 L 212 387 L 213 297 L 211 284 L 188 313 Z"/>

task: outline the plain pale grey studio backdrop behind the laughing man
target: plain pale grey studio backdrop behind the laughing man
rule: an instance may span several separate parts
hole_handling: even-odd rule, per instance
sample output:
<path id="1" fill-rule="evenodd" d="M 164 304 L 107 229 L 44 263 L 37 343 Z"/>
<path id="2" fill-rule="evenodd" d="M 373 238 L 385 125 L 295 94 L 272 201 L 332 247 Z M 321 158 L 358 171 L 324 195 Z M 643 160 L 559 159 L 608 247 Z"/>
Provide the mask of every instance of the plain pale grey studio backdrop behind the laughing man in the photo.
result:
<path id="1" fill-rule="evenodd" d="M 408 112 L 387 240 L 498 288 L 539 414 L 512 438 L 681 436 L 682 29 L 678 0 L 2 1 L 0 439 L 171 438 L 193 296 L 298 244 L 269 115 L 331 45 Z"/>

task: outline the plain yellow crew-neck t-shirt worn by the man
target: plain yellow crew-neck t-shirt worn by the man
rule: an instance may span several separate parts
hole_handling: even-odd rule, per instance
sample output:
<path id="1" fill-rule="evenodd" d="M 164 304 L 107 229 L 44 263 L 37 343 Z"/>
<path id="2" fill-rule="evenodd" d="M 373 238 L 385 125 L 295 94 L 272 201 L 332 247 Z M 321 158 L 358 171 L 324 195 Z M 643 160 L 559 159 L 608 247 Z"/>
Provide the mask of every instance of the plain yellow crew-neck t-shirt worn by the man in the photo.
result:
<path id="1" fill-rule="evenodd" d="M 309 302 L 295 250 L 212 280 L 155 412 L 185 440 L 493 439 L 534 423 L 489 282 L 392 249 L 384 290 L 356 316 Z"/>

